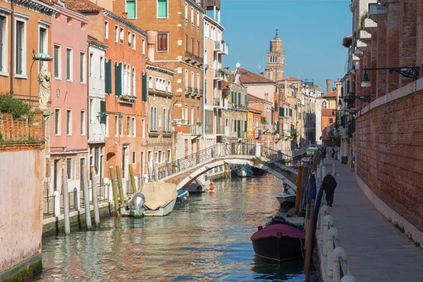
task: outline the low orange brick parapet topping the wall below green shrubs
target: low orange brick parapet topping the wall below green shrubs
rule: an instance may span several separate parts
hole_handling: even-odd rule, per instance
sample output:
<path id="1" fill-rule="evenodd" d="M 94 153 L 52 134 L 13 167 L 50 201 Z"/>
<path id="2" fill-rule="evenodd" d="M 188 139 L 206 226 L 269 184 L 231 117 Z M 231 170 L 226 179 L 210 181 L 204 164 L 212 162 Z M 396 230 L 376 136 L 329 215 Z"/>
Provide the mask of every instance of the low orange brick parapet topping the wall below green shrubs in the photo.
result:
<path id="1" fill-rule="evenodd" d="M 44 141 L 44 117 L 36 111 L 31 124 L 27 118 L 13 118 L 12 114 L 0 114 L 0 134 L 4 141 L 26 141 L 31 139 Z"/>

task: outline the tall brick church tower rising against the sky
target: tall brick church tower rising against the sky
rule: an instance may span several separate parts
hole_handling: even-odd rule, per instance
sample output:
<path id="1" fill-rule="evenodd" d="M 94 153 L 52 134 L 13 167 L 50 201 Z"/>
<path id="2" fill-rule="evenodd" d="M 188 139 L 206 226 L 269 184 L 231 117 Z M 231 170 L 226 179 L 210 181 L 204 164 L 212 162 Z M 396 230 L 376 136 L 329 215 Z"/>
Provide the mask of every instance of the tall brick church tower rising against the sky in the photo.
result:
<path id="1" fill-rule="evenodd" d="M 276 28 L 276 36 L 270 42 L 270 51 L 267 52 L 267 63 L 265 69 L 265 76 L 269 80 L 278 82 L 283 80 L 283 60 L 285 53 L 283 53 L 283 41 L 279 39 L 278 29 Z"/>

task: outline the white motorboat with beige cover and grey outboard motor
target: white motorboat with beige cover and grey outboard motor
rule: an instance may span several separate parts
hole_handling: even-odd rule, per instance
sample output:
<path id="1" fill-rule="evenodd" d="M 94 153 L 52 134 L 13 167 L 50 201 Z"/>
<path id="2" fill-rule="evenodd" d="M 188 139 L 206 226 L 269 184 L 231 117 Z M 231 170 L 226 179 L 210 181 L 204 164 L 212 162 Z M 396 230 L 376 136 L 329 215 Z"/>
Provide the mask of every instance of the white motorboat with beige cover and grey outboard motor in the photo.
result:
<path id="1" fill-rule="evenodd" d="M 166 216 L 175 207 L 178 192 L 173 183 L 148 182 L 121 207 L 123 216 Z"/>

